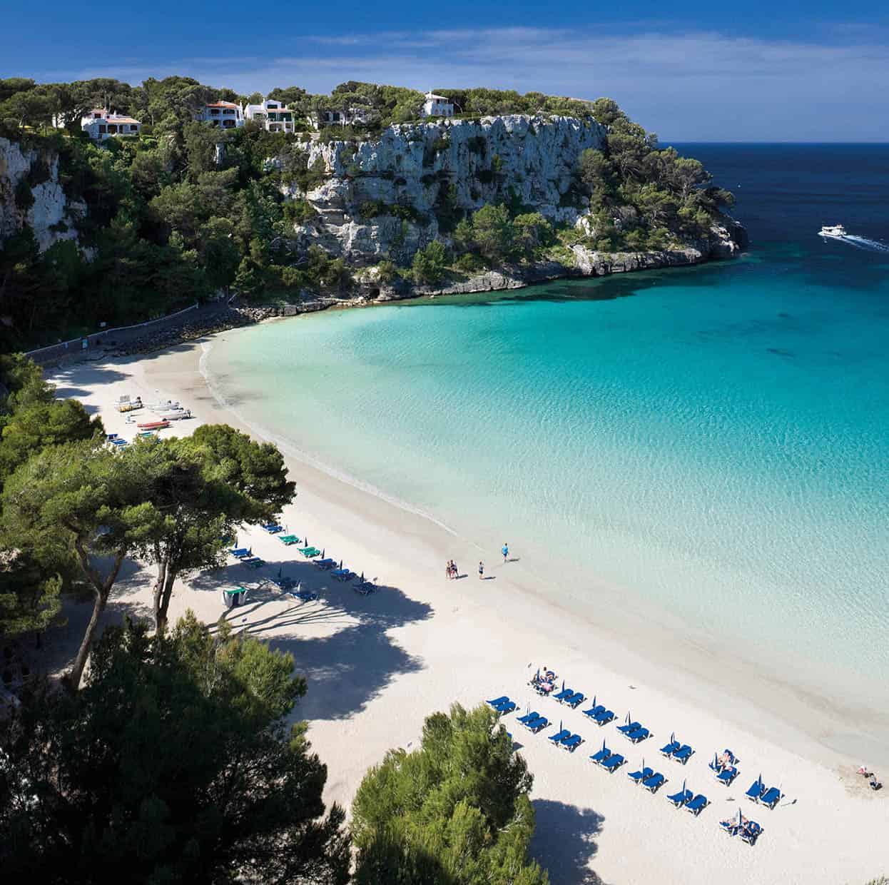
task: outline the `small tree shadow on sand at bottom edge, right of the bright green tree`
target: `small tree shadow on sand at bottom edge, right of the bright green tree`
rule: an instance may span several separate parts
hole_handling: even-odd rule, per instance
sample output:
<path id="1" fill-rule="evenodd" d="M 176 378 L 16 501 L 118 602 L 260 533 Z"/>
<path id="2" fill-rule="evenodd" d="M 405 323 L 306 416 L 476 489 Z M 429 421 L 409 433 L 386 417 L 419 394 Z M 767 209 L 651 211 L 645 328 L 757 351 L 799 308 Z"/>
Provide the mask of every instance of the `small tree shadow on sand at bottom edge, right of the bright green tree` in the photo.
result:
<path id="1" fill-rule="evenodd" d="M 605 817 L 593 809 L 546 799 L 535 799 L 533 806 L 537 827 L 531 855 L 549 870 L 552 885 L 602 885 L 589 861 L 596 857 L 593 837 L 602 832 Z"/>

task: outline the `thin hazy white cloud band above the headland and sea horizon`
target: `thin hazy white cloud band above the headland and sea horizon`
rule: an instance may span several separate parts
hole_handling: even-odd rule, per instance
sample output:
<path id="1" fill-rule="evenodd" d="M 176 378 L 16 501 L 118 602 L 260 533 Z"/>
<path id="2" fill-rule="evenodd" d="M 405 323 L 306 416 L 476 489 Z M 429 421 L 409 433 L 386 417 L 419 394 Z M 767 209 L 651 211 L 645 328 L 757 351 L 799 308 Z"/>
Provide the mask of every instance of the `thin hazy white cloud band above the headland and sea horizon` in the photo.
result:
<path id="1" fill-rule="evenodd" d="M 356 79 L 422 90 L 486 85 L 609 95 L 647 128 L 675 139 L 866 141 L 889 138 L 887 43 L 884 31 L 858 28 L 837 28 L 824 44 L 655 29 L 393 31 L 301 37 L 292 56 L 271 60 L 191 59 L 160 68 L 128 60 L 67 76 L 137 82 L 186 74 L 243 93 L 291 84 L 326 92 Z"/>

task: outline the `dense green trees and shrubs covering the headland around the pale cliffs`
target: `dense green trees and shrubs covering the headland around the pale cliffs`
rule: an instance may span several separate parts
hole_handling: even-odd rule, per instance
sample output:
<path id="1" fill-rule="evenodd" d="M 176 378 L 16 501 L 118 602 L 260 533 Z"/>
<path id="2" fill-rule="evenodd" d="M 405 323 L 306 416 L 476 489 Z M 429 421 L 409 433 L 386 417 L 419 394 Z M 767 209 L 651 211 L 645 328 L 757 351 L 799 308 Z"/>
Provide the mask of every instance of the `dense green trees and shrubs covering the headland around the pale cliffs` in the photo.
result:
<path id="1" fill-rule="evenodd" d="M 437 186 L 440 242 L 418 253 L 412 266 L 396 269 L 396 276 L 436 283 L 445 273 L 468 274 L 506 261 L 570 263 L 566 247 L 577 243 L 600 251 L 663 249 L 705 236 L 720 207 L 731 203 L 725 190 L 709 187 L 700 163 L 659 149 L 656 138 L 613 101 L 488 89 L 442 93 L 453 98 L 460 117 L 573 114 L 607 125 L 605 149 L 581 157 L 575 181 L 563 195 L 564 205 L 592 210 L 592 230 L 567 225 L 554 230 L 533 207 L 521 205 L 495 155 L 478 177 L 497 182 L 496 197 L 472 216 L 457 205 L 453 182 L 432 172 L 423 176 L 424 184 Z M 39 154 L 16 189 L 16 205 L 33 204 L 33 189 L 51 175 L 47 160 L 58 154 L 69 201 L 82 200 L 87 209 L 72 221 L 81 248 L 63 240 L 40 253 L 27 225 L 0 244 L 0 350 L 67 339 L 94 331 L 100 322 L 114 326 L 151 318 L 231 289 L 248 298 L 296 297 L 319 288 L 347 292 L 355 269 L 318 245 L 300 245 L 294 236 L 294 225 L 316 218 L 316 209 L 301 195 L 330 174 L 321 157 L 308 165 L 298 142 L 313 137 L 310 118 L 320 121 L 319 115 L 332 111 L 343 123 L 321 125 L 314 137 L 356 148 L 357 141 L 375 137 L 387 125 L 418 120 L 423 96 L 356 81 L 340 84 L 331 95 L 296 86 L 269 94 L 294 109 L 296 133 L 267 133 L 249 122 L 223 132 L 195 122 L 207 101 L 256 102 L 261 96 L 238 95 L 188 77 L 148 79 L 136 87 L 109 79 L 0 80 L 0 134 Z M 92 144 L 80 132 L 80 119 L 96 106 L 139 118 L 142 133 Z M 346 124 L 356 110 L 362 122 Z M 53 121 L 64 128 L 52 128 Z M 479 141 L 469 149 L 484 152 L 484 140 Z M 429 141 L 430 160 L 448 145 L 446 136 Z M 347 178 L 359 174 L 355 164 L 346 164 Z M 396 173 L 382 174 L 394 178 Z M 293 198 L 284 198 L 283 186 Z M 395 217 L 402 223 L 402 242 L 411 225 L 431 220 L 412 205 L 367 200 L 354 214 L 367 223 Z M 392 276 L 388 264 L 381 273 Z"/>

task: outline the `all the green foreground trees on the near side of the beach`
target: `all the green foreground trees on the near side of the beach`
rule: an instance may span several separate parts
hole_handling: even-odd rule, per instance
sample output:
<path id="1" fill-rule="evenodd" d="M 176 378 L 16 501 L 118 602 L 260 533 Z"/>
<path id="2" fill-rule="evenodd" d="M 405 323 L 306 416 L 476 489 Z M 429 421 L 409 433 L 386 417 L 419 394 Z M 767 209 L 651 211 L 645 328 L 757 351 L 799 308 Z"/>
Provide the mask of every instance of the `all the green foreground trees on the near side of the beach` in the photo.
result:
<path id="1" fill-rule="evenodd" d="M 108 451 L 100 421 L 20 356 L 0 356 L 0 391 L 6 879 L 545 885 L 528 855 L 532 777 L 492 710 L 429 717 L 420 749 L 365 777 L 347 832 L 342 810 L 324 808 L 327 769 L 305 724 L 292 724 L 310 688 L 293 656 L 225 619 L 166 624 L 171 575 L 212 569 L 226 536 L 292 500 L 275 447 L 204 426 Z M 157 567 L 156 629 L 126 621 L 95 641 L 126 558 Z M 67 637 L 80 644 L 68 678 L 40 671 L 38 642 L 36 672 L 13 680 L 6 652 L 69 633 L 61 600 L 84 593 L 93 616 Z"/>

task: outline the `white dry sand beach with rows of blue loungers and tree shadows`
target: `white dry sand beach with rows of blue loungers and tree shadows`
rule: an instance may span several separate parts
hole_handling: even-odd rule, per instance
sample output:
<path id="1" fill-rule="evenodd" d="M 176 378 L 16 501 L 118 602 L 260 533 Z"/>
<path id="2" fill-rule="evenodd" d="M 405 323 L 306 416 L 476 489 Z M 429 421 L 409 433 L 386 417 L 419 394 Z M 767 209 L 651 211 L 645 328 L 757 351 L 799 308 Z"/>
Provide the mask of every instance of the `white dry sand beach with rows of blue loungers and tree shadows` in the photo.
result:
<path id="1" fill-rule="evenodd" d="M 145 401 L 180 400 L 196 414 L 165 434 L 188 433 L 200 422 L 238 426 L 236 416 L 207 389 L 200 354 L 199 344 L 183 345 L 140 359 L 70 366 L 51 380 L 60 396 L 79 398 L 101 415 L 106 430 L 127 438 L 134 435 L 135 424 L 127 424 L 115 409 L 124 393 Z M 215 623 L 225 611 L 222 588 L 250 589 L 244 607 L 228 617 L 236 629 L 291 651 L 298 671 L 307 676 L 308 695 L 296 714 L 308 720 L 309 737 L 328 765 L 328 801 L 348 808 L 365 770 L 390 747 L 410 747 L 430 712 L 455 701 L 474 705 L 508 695 L 522 712 L 531 704 L 549 720 L 563 720 L 586 741 L 573 754 L 561 752 L 546 740 L 552 729 L 532 736 L 514 715 L 504 720 L 522 744 L 520 752 L 535 778 L 535 856 L 549 867 L 556 885 L 595 881 L 594 871 L 602 881 L 628 885 L 863 885 L 889 873 L 889 788 L 872 792 L 854 775 L 867 762 L 889 782 L 889 769 L 881 770 L 878 759 L 841 756 L 805 729 L 791 728 L 785 720 L 795 719 L 795 703 L 803 715 L 801 699 L 795 702 L 788 693 L 787 715 L 780 719 L 757 706 L 750 691 L 738 696 L 725 661 L 713 659 L 705 679 L 703 656 L 681 670 L 662 664 L 657 649 L 639 656 L 605 632 L 607 625 L 585 623 L 536 595 L 522 561 L 534 551 L 514 551 L 518 561 L 503 564 L 498 551 L 479 551 L 429 519 L 307 464 L 288 463 L 298 489 L 282 519 L 289 531 L 364 572 L 380 591 L 359 596 L 294 548 L 255 529 L 242 533 L 238 543 L 251 546 L 268 566 L 253 572 L 235 563 L 220 573 L 194 575 L 177 587 L 171 615 L 190 607 Z M 467 575 L 459 581 L 445 579 L 445 561 L 452 558 Z M 492 580 L 478 580 L 478 559 L 485 559 Z M 279 566 L 304 588 L 316 589 L 320 599 L 301 603 L 277 591 L 268 576 Z M 137 566 L 126 572 L 112 596 L 107 622 L 119 621 L 125 612 L 149 615 L 150 576 Z M 86 609 L 68 612 L 72 635 L 88 617 Z M 58 651 L 63 654 L 64 648 Z M 653 738 L 633 746 L 614 725 L 590 723 L 581 714 L 587 704 L 573 711 L 534 695 L 527 681 L 544 664 L 560 682 L 590 698 L 595 694 L 619 721 L 632 712 L 653 730 Z M 657 752 L 674 731 L 696 751 L 685 767 Z M 613 775 L 588 760 L 603 738 L 629 759 Z M 886 744 L 883 758 L 889 758 L 889 739 Z M 855 746 L 854 736 L 848 745 Z M 717 784 L 708 768 L 713 752 L 725 747 L 741 759 L 741 776 L 728 788 Z M 627 777 L 643 758 L 669 778 L 657 795 Z M 786 794 L 772 811 L 744 798 L 760 773 Z M 665 798 L 684 779 L 711 801 L 700 817 L 674 809 Z M 764 827 L 754 847 L 727 837 L 718 826 L 739 808 Z"/>

